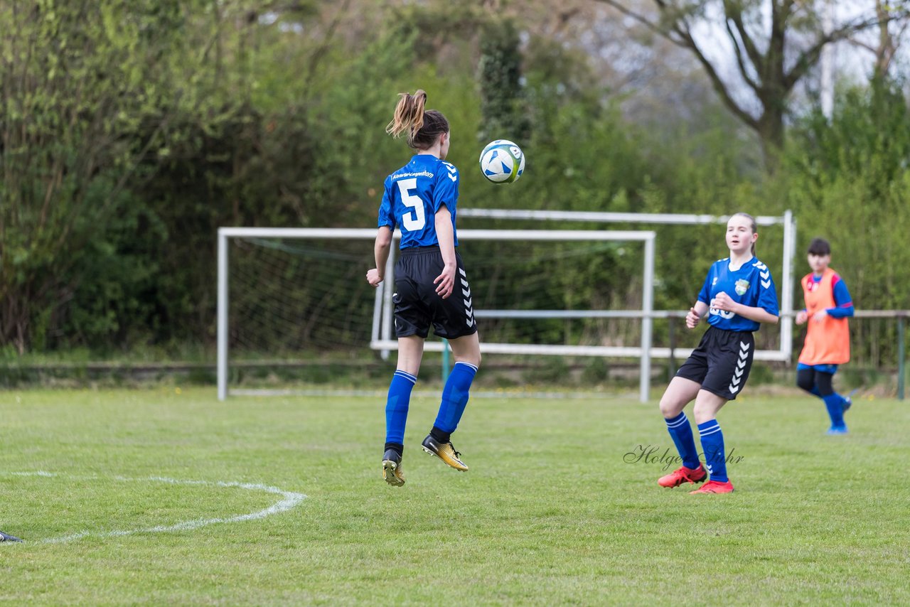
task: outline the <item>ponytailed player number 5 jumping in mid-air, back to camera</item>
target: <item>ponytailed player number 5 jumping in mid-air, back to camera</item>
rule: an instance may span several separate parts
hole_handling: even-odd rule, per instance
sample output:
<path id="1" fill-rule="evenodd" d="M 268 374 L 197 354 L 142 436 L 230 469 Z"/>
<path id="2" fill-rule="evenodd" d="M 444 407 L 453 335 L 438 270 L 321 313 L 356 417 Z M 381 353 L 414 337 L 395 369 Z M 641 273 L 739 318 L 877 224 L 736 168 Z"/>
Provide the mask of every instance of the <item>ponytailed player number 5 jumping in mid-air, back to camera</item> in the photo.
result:
<path id="1" fill-rule="evenodd" d="M 378 287 L 389 259 L 392 233 L 401 229 L 401 255 L 395 264 L 395 334 L 398 366 L 386 401 L 386 443 L 382 478 L 390 485 L 404 484 L 401 453 L 408 420 L 410 392 L 417 382 L 423 340 L 433 332 L 449 339 L 455 358 L 442 389 L 439 414 L 421 447 L 455 470 L 466 471 L 461 454 L 452 446 L 468 404 L 470 384 L 480 367 L 480 339 L 471 304 L 470 286 L 456 250 L 458 169 L 445 161 L 449 153 L 449 121 L 434 109 L 425 110 L 427 94 L 402 93 L 395 116 L 386 128 L 392 137 L 404 135 L 417 153 L 404 167 L 386 177 L 379 206 L 379 233 L 374 247 L 376 268 L 367 281 Z"/>

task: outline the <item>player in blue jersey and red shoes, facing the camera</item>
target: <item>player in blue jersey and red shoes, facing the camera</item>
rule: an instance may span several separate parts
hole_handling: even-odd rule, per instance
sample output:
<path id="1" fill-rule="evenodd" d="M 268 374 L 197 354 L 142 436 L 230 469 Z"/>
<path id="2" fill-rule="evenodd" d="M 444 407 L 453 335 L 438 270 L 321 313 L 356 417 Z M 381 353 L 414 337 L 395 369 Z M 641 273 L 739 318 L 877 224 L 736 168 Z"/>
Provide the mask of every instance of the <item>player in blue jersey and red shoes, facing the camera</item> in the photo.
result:
<path id="1" fill-rule="evenodd" d="M 755 258 L 757 239 L 751 215 L 737 213 L 727 221 L 730 257 L 714 262 L 698 300 L 685 317 L 686 327 L 694 329 L 707 312 L 710 327 L 661 399 L 661 413 L 682 459 L 682 468 L 657 481 L 662 487 L 701 482 L 710 475 L 708 482 L 691 492 L 733 491 L 717 412 L 736 398 L 749 377 L 755 349 L 753 331 L 761 323 L 776 324 L 780 313 L 771 270 Z M 704 465 L 695 449 L 692 427 L 682 412 L 692 400 Z"/>

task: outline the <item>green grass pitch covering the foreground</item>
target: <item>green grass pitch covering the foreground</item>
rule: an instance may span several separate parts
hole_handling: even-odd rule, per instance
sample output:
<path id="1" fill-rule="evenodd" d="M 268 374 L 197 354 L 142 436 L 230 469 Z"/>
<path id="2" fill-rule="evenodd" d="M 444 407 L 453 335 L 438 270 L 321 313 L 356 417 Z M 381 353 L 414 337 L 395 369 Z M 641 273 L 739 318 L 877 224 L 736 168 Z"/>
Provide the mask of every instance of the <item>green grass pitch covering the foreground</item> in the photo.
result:
<path id="1" fill-rule="evenodd" d="M 393 488 L 381 396 L 178 392 L 0 395 L 0 529 L 26 540 L 0 545 L 2 599 L 910 603 L 906 402 L 828 437 L 820 401 L 747 392 L 720 417 L 736 491 L 694 496 L 627 455 L 672 450 L 632 399 L 475 395 L 459 473 L 420 451 L 421 393 Z"/>

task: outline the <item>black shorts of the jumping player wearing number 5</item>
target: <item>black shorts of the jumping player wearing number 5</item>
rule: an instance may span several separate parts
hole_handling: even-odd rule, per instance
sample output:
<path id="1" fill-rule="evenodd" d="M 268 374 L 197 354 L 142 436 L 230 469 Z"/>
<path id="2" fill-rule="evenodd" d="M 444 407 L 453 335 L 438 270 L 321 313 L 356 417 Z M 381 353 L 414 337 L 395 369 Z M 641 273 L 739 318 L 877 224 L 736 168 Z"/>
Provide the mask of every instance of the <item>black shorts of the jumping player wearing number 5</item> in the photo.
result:
<path id="1" fill-rule="evenodd" d="M 433 332 L 440 338 L 456 339 L 477 332 L 468 275 L 455 252 L 458 269 L 455 287 L 448 298 L 440 298 L 433 280 L 442 273 L 439 247 L 410 247 L 401 250 L 395 264 L 395 336 L 426 338 Z"/>

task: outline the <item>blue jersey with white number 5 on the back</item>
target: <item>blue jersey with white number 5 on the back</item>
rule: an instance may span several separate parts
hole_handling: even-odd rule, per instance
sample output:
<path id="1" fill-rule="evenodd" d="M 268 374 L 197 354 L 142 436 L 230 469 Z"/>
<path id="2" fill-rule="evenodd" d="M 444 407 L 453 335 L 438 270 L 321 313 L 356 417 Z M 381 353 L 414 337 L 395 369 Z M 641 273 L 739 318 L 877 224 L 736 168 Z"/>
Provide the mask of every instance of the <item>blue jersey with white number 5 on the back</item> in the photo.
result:
<path id="1" fill-rule="evenodd" d="M 445 205 L 455 232 L 455 205 L 458 202 L 458 169 L 432 154 L 417 154 L 404 167 L 386 177 L 385 193 L 379 206 L 379 228 L 401 228 L 401 248 L 439 245 L 436 213 Z"/>

